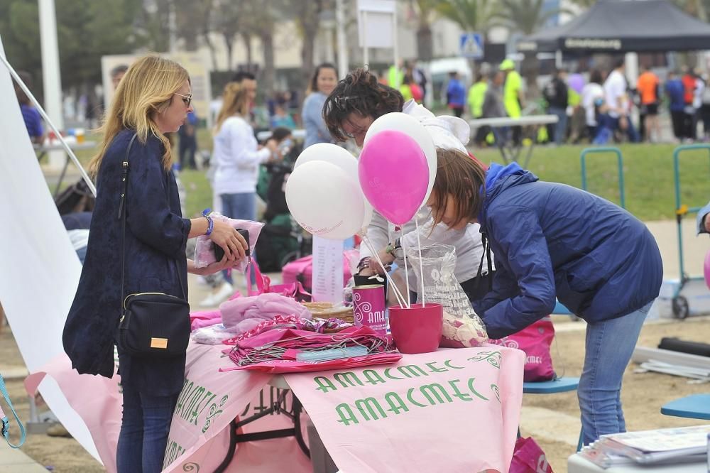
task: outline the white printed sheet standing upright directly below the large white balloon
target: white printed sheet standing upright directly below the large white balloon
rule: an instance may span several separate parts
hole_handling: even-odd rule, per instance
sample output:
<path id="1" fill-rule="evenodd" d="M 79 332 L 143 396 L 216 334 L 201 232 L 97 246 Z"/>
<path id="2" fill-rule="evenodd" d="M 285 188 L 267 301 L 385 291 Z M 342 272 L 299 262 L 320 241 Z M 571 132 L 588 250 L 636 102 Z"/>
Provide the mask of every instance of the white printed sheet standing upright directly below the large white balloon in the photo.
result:
<path id="1" fill-rule="evenodd" d="M 343 242 L 313 236 L 313 300 L 342 303 Z"/>

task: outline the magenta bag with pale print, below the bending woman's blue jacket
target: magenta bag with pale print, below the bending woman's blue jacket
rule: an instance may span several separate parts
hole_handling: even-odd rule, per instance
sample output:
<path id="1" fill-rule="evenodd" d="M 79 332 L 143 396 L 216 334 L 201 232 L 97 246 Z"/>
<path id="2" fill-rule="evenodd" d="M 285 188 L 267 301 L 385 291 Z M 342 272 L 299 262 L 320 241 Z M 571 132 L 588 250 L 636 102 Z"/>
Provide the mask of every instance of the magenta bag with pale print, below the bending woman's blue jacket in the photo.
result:
<path id="1" fill-rule="evenodd" d="M 555 339 L 555 326 L 552 325 L 550 317 L 545 317 L 513 335 L 491 340 L 491 343 L 525 352 L 523 381 L 550 381 L 555 379 L 555 370 L 552 369 L 550 356 L 553 339 Z"/>

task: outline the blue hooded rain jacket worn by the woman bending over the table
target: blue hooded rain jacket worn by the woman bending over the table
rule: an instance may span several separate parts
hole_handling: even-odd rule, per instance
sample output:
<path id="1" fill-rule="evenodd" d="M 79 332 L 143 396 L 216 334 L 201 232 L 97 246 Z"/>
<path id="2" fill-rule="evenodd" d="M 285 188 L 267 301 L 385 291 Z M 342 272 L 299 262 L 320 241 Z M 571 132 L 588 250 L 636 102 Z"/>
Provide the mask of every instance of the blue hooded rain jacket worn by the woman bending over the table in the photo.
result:
<path id="1" fill-rule="evenodd" d="M 539 181 L 515 163 L 488 169 L 479 222 L 496 276 L 474 307 L 491 338 L 549 315 L 555 296 L 587 322 L 600 322 L 643 308 L 660 290 L 660 252 L 642 222 L 589 192 Z"/>

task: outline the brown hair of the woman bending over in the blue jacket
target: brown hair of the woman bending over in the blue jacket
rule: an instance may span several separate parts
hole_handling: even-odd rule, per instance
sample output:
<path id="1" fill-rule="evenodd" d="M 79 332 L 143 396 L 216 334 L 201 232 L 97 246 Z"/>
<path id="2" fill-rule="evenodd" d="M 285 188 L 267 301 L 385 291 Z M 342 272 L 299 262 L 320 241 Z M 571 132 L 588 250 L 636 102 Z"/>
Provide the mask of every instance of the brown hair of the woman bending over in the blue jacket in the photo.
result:
<path id="1" fill-rule="evenodd" d="M 455 222 L 479 218 L 486 197 L 486 172 L 471 156 L 456 149 L 437 148 L 437 177 L 430 204 L 435 223 L 442 221 L 447 196 L 456 209 Z"/>

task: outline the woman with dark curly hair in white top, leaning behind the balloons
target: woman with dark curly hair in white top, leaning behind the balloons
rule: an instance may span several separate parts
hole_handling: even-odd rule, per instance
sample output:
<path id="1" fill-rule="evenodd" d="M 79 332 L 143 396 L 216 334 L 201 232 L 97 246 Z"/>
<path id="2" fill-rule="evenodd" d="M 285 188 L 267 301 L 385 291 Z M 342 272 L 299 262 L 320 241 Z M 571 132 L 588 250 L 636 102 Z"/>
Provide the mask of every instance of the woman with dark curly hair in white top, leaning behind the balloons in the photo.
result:
<path id="1" fill-rule="evenodd" d="M 330 134 L 337 141 L 353 138 L 357 146 L 363 146 L 365 135 L 373 121 L 384 114 L 404 112 L 424 124 L 432 136 L 437 148 L 454 148 L 466 153 L 465 144 L 469 141 L 469 126 L 465 121 L 453 116 L 434 116 L 432 112 L 416 104 L 414 100 L 404 102 L 402 94 L 392 87 L 382 85 L 377 77 L 366 69 L 351 71 L 325 100 L 323 117 Z M 396 176 L 392 176 L 393 179 Z M 488 290 L 488 278 L 493 268 L 488 270 L 484 261 L 480 273 L 471 268 L 479 268 L 483 256 L 481 236 L 473 225 L 461 229 L 448 229 L 444 224 L 435 224 L 428 207 L 422 207 L 415 215 L 419 222 L 422 246 L 434 243 L 456 247 L 457 265 L 454 274 L 461 288 L 470 300 L 482 298 Z M 367 229 L 367 237 L 378 251 L 383 263 L 397 262 L 402 266 L 404 260 L 401 251 L 401 239 L 405 246 L 417 245 L 415 219 L 403 225 L 402 237 L 395 239 L 395 228 L 381 214 L 373 213 L 372 222 Z M 383 273 L 384 269 L 371 259 L 371 251 L 365 246 L 360 248 L 359 274 L 371 276 Z M 479 279 L 480 283 L 476 283 Z M 410 286 L 417 287 L 410 281 Z M 414 295 L 416 299 L 416 295 Z"/>

